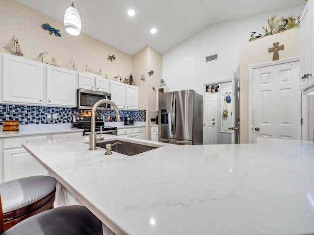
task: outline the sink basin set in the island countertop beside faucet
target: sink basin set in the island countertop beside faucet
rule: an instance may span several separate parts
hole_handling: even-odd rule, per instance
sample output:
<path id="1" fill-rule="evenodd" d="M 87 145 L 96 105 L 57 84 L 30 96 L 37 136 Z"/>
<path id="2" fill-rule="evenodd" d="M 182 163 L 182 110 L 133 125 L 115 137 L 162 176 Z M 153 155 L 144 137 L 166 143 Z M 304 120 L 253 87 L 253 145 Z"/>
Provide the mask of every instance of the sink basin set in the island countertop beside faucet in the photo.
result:
<path id="1" fill-rule="evenodd" d="M 121 140 L 97 142 L 96 146 L 105 149 L 105 145 L 107 143 L 114 144 L 115 142 L 120 142 L 121 144 L 113 145 L 111 147 L 111 150 L 113 152 L 122 153 L 128 156 L 133 156 L 133 155 L 143 153 L 143 152 L 162 146 L 162 145 L 157 145 L 157 144 L 135 143 L 135 142 L 127 142 L 127 141 L 121 141 Z"/>

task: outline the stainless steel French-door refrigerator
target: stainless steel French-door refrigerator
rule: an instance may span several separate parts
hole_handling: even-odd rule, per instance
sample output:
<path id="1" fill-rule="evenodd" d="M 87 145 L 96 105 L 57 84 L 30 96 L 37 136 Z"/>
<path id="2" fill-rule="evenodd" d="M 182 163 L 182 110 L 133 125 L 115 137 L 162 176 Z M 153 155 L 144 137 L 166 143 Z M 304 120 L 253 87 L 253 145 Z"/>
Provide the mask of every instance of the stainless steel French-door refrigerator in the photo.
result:
<path id="1" fill-rule="evenodd" d="M 158 96 L 158 141 L 203 144 L 203 96 L 193 90 Z"/>

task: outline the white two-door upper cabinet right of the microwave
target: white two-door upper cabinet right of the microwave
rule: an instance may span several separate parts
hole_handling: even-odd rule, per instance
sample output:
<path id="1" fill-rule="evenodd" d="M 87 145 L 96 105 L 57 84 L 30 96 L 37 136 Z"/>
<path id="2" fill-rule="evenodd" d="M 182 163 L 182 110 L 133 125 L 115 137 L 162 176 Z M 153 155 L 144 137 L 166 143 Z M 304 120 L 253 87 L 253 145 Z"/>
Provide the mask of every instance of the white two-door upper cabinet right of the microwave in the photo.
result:
<path id="1" fill-rule="evenodd" d="M 119 109 L 138 109 L 138 87 L 121 82 L 110 82 L 111 100 Z"/>

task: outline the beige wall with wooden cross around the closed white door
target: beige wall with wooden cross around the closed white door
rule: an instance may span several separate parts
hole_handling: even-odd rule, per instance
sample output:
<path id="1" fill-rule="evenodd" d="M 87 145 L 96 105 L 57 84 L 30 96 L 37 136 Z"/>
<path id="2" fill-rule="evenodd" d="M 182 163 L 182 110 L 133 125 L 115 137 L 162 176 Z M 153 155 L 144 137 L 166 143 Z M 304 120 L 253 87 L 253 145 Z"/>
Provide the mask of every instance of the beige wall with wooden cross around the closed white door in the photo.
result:
<path id="1" fill-rule="evenodd" d="M 249 66 L 271 62 L 273 53 L 268 53 L 268 47 L 273 47 L 276 42 L 285 45 L 285 49 L 279 51 L 280 59 L 300 56 L 299 28 L 257 39 L 240 47 L 240 143 L 248 143 L 249 135 Z"/>

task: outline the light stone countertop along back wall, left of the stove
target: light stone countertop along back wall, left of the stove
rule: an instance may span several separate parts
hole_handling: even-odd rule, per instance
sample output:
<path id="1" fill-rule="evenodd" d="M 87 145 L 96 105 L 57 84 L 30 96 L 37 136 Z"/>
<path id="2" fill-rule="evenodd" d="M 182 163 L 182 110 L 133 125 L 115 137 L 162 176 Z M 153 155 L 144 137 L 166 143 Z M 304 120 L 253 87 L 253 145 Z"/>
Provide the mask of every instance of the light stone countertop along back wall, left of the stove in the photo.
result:
<path id="1" fill-rule="evenodd" d="M 83 132 L 82 129 L 72 128 L 72 124 L 33 124 L 33 125 L 20 125 L 19 131 L 3 132 L 0 126 L 0 139 L 34 136 L 34 135 L 48 135 L 69 132 Z"/>

